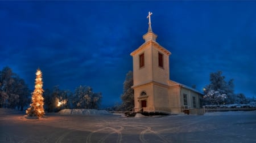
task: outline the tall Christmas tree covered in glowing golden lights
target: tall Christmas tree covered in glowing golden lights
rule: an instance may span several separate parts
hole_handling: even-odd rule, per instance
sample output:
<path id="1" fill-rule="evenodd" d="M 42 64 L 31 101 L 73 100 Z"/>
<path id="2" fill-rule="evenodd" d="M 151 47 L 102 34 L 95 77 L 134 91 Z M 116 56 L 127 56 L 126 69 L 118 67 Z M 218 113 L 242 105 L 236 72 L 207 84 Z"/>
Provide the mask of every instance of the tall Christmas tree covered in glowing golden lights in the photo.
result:
<path id="1" fill-rule="evenodd" d="M 42 72 L 38 69 L 36 71 L 35 79 L 35 90 L 32 93 L 32 103 L 30 107 L 26 110 L 27 116 L 37 116 L 38 118 L 44 116 L 44 98 L 43 98 L 43 81 Z"/>

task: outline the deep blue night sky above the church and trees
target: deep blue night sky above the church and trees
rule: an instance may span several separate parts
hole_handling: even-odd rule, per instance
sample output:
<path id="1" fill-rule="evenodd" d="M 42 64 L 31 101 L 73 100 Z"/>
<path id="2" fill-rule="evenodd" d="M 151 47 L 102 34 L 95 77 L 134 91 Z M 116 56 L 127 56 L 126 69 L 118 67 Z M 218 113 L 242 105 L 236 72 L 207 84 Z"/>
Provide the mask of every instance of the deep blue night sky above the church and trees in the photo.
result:
<path id="1" fill-rule="evenodd" d="M 256 1 L 1 1 L 0 70 L 9 66 L 34 89 L 79 85 L 121 102 L 130 53 L 152 31 L 171 51 L 170 79 L 202 91 L 212 72 L 256 96 Z"/>

